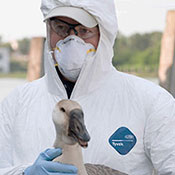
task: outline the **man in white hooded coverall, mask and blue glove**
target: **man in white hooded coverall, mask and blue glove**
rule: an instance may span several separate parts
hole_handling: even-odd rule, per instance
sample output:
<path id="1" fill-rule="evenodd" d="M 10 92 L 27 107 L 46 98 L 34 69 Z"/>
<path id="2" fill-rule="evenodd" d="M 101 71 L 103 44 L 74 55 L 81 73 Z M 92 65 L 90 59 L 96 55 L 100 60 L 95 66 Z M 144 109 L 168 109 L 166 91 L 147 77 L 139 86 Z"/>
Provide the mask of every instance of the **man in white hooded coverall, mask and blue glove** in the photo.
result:
<path id="1" fill-rule="evenodd" d="M 0 105 L 0 175 L 75 175 L 51 160 L 52 110 L 80 103 L 91 135 L 84 162 L 129 175 L 175 175 L 175 100 L 112 66 L 117 19 L 113 0 L 43 0 L 45 76 L 15 89 Z M 46 151 L 44 151 L 46 150 Z M 44 151 L 44 152 L 43 152 Z"/>

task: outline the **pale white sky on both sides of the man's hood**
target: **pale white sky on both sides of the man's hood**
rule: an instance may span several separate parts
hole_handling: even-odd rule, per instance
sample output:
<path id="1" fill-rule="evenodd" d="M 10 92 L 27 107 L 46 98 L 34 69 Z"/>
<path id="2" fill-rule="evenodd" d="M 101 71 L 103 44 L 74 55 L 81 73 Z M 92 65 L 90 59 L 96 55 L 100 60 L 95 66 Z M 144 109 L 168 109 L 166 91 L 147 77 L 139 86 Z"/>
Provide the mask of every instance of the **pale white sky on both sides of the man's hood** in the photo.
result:
<path id="1" fill-rule="evenodd" d="M 40 3 L 41 0 L 1 0 L 3 41 L 45 36 Z M 119 31 L 126 36 L 164 31 L 167 11 L 175 10 L 175 0 L 115 0 L 115 4 Z"/>

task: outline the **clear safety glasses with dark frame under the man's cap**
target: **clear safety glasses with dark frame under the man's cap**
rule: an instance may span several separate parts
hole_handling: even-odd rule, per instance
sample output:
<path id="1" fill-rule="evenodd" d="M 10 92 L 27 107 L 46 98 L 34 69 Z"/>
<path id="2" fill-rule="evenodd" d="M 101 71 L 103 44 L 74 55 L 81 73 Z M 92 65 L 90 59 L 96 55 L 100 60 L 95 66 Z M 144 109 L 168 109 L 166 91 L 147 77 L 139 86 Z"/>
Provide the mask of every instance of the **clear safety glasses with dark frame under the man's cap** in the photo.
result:
<path id="1" fill-rule="evenodd" d="M 82 39 L 92 38 L 98 34 L 97 27 L 87 28 L 81 24 L 70 24 L 57 18 L 50 18 L 49 25 L 58 36 L 63 38 L 70 35 L 71 30 Z"/>

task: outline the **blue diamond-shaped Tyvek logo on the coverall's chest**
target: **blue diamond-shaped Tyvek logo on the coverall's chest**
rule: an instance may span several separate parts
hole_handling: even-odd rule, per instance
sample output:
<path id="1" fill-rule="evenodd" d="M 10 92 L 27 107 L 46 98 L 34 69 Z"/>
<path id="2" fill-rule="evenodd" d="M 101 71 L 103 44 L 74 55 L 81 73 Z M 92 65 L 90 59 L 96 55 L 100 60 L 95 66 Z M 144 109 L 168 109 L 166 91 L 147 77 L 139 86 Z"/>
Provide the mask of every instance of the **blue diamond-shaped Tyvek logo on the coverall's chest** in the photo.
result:
<path id="1" fill-rule="evenodd" d="M 127 154 L 136 142 L 135 135 L 126 127 L 117 129 L 109 138 L 110 145 L 121 155 Z"/>

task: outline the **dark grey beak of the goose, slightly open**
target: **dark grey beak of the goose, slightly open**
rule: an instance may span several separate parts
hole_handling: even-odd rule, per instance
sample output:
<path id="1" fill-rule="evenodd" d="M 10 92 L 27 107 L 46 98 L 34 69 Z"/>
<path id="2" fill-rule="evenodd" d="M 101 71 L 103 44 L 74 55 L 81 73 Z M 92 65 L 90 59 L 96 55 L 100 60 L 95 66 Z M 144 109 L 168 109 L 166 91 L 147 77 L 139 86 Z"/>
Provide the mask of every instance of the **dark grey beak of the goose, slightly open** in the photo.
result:
<path id="1" fill-rule="evenodd" d="M 73 137 L 81 147 L 88 147 L 90 136 L 84 124 L 83 111 L 81 109 L 74 109 L 70 112 L 69 117 L 68 135 Z"/>

